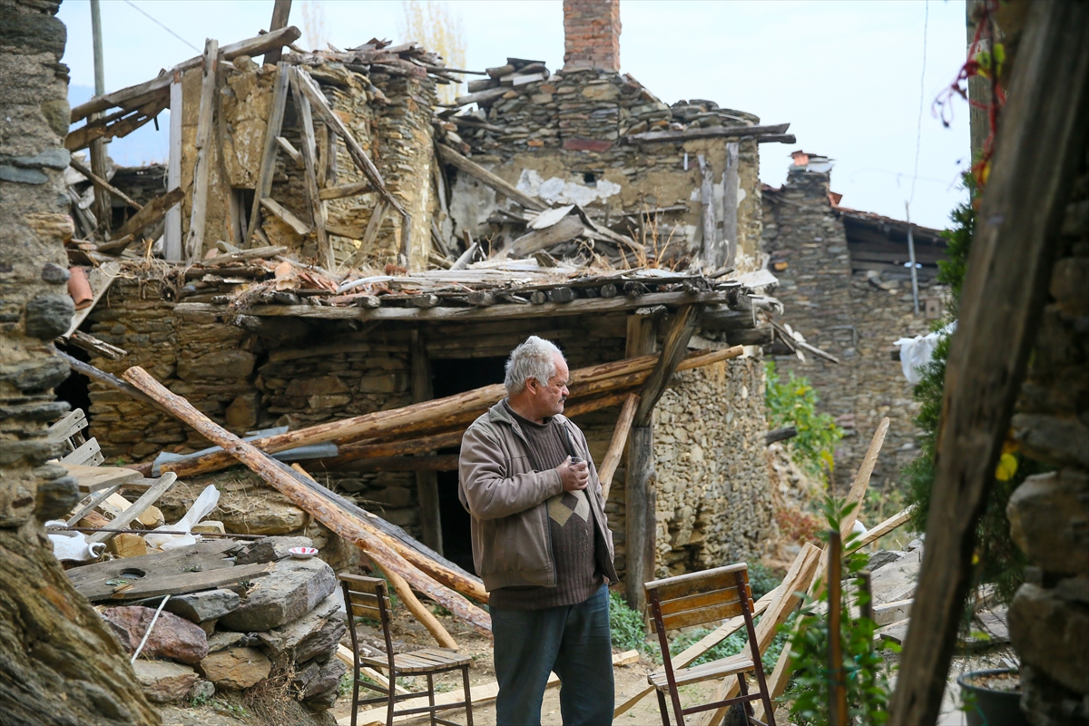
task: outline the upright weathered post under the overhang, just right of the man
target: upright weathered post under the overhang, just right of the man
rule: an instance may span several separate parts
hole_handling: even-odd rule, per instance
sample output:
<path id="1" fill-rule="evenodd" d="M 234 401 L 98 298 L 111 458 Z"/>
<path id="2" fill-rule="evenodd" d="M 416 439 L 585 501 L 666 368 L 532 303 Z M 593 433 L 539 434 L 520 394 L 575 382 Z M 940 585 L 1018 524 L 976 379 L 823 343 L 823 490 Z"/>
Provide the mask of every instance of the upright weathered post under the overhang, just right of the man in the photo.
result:
<path id="1" fill-rule="evenodd" d="M 627 318 L 626 356 L 633 358 L 654 352 L 657 325 L 649 316 L 632 315 Z M 659 358 L 661 361 L 661 358 Z M 656 364 L 657 369 L 657 364 Z M 657 401 L 657 398 L 656 398 Z M 636 407 L 638 411 L 643 401 Z M 627 466 L 624 471 L 624 586 L 627 604 L 640 615 L 646 614 L 647 593 L 644 582 L 654 579 L 654 549 L 657 522 L 654 521 L 654 436 L 649 422 L 638 422 L 628 433 Z"/>

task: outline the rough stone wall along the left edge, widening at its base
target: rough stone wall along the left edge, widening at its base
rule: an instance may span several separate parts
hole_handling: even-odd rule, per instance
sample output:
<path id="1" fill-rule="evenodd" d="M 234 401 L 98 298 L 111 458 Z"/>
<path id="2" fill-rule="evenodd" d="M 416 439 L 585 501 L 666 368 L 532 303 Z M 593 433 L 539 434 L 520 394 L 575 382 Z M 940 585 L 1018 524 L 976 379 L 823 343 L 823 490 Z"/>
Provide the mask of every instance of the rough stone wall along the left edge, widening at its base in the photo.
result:
<path id="1" fill-rule="evenodd" d="M 129 659 L 72 587 L 44 520 L 76 504 L 46 427 L 68 413 L 52 341 L 73 313 L 61 172 L 69 69 L 58 2 L 0 0 L 0 723 L 157 724 Z"/>

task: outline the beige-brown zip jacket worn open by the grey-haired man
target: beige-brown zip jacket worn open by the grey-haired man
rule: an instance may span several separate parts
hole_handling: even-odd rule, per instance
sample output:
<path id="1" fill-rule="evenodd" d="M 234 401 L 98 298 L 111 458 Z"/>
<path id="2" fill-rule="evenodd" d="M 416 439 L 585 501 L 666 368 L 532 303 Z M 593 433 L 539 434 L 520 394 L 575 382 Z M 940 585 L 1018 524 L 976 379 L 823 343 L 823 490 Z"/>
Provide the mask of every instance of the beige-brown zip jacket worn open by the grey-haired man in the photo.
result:
<path id="1" fill-rule="evenodd" d="M 601 483 L 586 436 L 564 416 L 572 441 L 589 463 L 586 497 L 597 525 L 598 567 L 616 582 L 612 534 L 605 522 Z M 473 561 L 487 590 L 516 586 L 555 587 L 555 562 L 546 502 L 563 492 L 555 469 L 534 471 L 529 444 L 517 421 L 500 402 L 478 418 L 462 439 L 457 487 L 473 519 Z M 601 544 L 604 546 L 600 546 Z M 602 554 L 608 553 L 607 557 Z"/>

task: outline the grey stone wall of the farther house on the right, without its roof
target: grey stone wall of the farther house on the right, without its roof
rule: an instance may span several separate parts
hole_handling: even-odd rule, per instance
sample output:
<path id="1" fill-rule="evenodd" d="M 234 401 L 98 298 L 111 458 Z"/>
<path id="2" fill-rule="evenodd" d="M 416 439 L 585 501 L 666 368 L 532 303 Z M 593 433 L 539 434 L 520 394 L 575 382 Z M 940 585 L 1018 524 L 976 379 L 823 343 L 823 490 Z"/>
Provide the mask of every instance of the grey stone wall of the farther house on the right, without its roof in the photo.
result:
<path id="1" fill-rule="evenodd" d="M 774 295 L 785 307 L 783 320 L 841 362 L 809 353 L 805 362 L 793 355 L 774 360 L 782 378 L 791 371 L 807 377 L 818 410 L 845 429 L 835 453 L 837 485 L 849 485 L 881 419 L 891 419 L 873 473 L 873 484 L 884 487 L 916 456 L 919 434 L 918 404 L 891 358 L 892 344 L 926 334 L 930 321 L 915 315 L 902 274 L 852 272 L 843 221 L 828 193 L 829 173 L 792 168 L 786 185 L 763 196 L 763 250 L 780 281 Z M 931 280 L 919 284 L 920 297 L 945 294 Z"/>

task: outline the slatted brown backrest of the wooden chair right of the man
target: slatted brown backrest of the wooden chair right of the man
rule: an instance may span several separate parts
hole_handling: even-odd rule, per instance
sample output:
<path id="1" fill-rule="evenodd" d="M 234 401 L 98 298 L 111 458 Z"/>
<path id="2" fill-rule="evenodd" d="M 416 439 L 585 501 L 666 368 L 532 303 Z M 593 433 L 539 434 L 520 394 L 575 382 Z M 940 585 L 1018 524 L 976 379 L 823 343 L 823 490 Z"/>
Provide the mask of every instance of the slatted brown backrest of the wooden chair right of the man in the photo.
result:
<path id="1" fill-rule="evenodd" d="M 748 583 L 748 565 L 727 565 L 689 573 L 663 580 L 647 582 L 649 603 L 658 602 L 662 626 L 676 630 L 713 620 L 723 620 L 742 614 L 742 600 L 737 592 L 737 575 L 742 576 L 748 612 L 752 612 L 752 589 Z M 650 618 L 651 632 L 658 631 L 657 618 Z"/>

